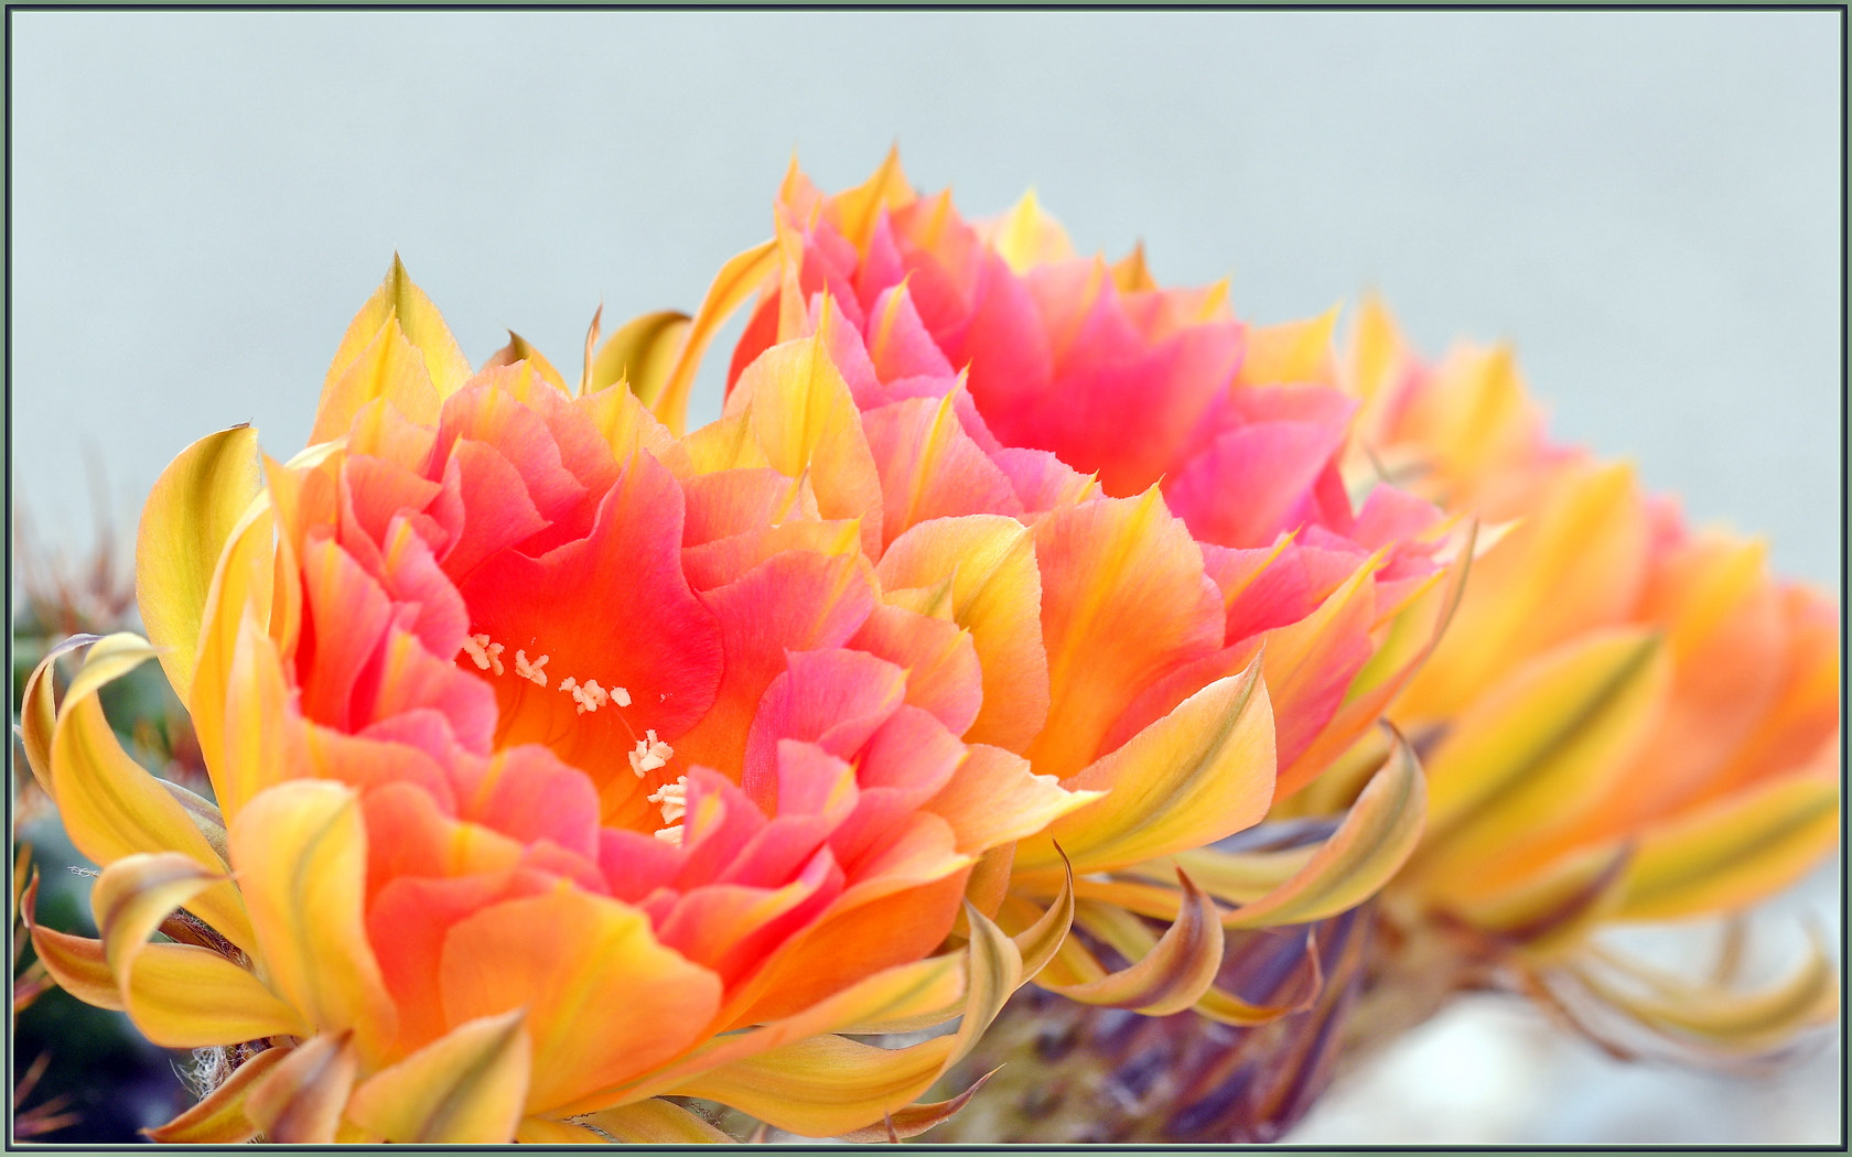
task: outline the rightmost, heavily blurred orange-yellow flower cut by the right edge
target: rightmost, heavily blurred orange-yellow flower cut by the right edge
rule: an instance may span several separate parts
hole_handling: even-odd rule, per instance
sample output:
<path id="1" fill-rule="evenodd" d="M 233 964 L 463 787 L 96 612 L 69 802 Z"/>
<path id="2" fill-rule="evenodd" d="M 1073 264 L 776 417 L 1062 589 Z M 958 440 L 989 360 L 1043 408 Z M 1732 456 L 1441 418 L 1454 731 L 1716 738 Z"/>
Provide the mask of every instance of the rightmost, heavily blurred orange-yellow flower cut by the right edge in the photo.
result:
<path id="1" fill-rule="evenodd" d="M 1432 815 L 1385 913 L 1691 1050 L 1765 1051 L 1830 1016 L 1819 948 L 1785 985 L 1733 994 L 1591 933 L 1737 913 L 1832 852 L 1835 603 L 1772 578 L 1763 542 L 1689 529 L 1626 465 L 1550 442 L 1509 350 L 1430 367 L 1370 302 L 1345 381 L 1363 402 L 1356 474 L 1502 531 L 1391 707 L 1424 752 Z"/>

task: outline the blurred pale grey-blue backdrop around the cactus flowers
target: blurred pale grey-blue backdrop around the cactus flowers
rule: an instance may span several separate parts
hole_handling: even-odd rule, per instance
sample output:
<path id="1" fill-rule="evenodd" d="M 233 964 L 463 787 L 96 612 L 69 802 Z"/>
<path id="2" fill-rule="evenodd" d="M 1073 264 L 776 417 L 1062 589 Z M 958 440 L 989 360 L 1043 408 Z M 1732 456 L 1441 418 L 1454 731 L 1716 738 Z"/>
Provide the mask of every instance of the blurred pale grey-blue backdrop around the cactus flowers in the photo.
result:
<path id="1" fill-rule="evenodd" d="M 131 528 L 211 429 L 300 448 L 394 250 L 472 361 L 511 328 L 570 367 L 600 302 L 607 331 L 693 309 L 770 233 L 793 154 L 839 189 L 898 143 L 967 215 L 1033 187 L 1082 250 L 1143 241 L 1161 281 L 1230 276 L 1252 320 L 1374 289 L 1430 354 L 1509 339 L 1558 437 L 1841 581 L 1837 11 L 9 20 L 7 450 L 41 561 L 91 550 L 96 509 Z M 706 385 L 696 418 L 719 413 Z M 69 572 L 85 585 L 120 576 Z M 183 774 L 185 752 L 161 759 Z M 28 835 L 46 920 L 80 927 L 76 853 L 56 822 Z M 1778 918 L 1837 929 L 1839 879 Z M 52 1061 L 24 1105 L 87 1118 L 46 1137 L 128 1140 L 172 1113 L 170 1059 L 130 1040 L 59 992 L 28 1011 L 15 1079 Z M 1841 1096 L 1832 1042 L 1726 1081 L 1617 1064 L 1487 1000 L 1289 1140 L 1826 1144 Z"/>

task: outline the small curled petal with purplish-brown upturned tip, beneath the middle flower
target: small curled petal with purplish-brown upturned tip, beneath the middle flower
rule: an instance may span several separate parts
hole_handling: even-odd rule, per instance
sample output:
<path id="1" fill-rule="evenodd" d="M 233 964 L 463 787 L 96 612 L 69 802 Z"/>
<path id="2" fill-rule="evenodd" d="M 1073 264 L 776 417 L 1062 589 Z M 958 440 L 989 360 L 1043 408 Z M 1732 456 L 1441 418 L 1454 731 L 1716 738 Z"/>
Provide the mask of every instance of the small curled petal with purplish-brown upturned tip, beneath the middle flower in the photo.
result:
<path id="1" fill-rule="evenodd" d="M 1222 924 L 1215 903 L 1189 876 L 1178 872 L 1178 881 L 1183 887 L 1178 918 L 1156 942 L 1130 913 L 1083 902 L 1076 916 L 1082 927 L 1133 963 L 1095 981 L 1048 989 L 1069 1000 L 1145 1016 L 1182 1013 L 1202 1000 L 1222 966 Z"/>

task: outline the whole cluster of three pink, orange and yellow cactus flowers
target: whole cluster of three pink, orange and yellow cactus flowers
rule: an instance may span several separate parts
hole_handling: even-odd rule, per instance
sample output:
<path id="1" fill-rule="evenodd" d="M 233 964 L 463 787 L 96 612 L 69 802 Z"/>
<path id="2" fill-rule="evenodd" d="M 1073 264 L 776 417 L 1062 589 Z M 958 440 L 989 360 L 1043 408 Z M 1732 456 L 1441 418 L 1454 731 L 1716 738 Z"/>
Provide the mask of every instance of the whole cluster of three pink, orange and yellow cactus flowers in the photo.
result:
<path id="1" fill-rule="evenodd" d="M 39 961 L 209 1050 L 154 1137 L 728 1140 L 693 1098 L 898 1138 L 1050 1007 L 1265 1026 L 1270 1137 L 1385 942 L 1724 1046 L 1817 1018 L 1830 966 L 1704 1020 L 1576 953 L 1837 839 L 1835 607 L 1550 446 L 1502 357 L 1226 298 L 893 156 L 793 167 L 772 241 L 693 317 L 594 320 L 576 381 L 515 335 L 472 368 L 394 259 L 306 450 L 161 476 L 146 641 L 26 687 L 102 868 L 98 937 L 33 924 Z M 148 659 L 211 800 L 104 716 Z M 1228 1129 L 1217 1048 L 1182 1116 Z"/>

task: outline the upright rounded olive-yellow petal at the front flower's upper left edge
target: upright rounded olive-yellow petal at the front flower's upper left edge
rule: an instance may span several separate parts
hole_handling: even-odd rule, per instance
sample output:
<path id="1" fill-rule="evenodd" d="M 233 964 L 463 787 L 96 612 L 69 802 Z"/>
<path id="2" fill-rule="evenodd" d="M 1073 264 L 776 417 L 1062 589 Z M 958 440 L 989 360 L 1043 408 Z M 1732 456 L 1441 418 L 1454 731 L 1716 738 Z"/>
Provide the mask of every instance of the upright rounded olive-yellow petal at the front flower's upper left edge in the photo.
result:
<path id="1" fill-rule="evenodd" d="M 180 702 L 193 685 L 206 592 L 226 539 L 261 487 L 257 431 L 233 426 L 161 470 L 135 533 L 135 603 Z"/>

